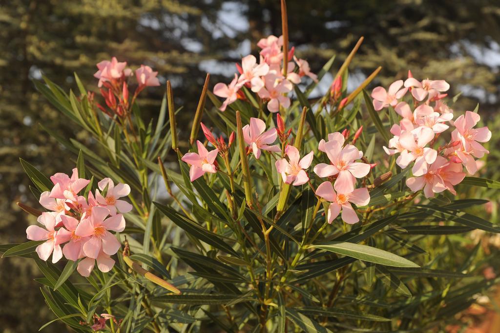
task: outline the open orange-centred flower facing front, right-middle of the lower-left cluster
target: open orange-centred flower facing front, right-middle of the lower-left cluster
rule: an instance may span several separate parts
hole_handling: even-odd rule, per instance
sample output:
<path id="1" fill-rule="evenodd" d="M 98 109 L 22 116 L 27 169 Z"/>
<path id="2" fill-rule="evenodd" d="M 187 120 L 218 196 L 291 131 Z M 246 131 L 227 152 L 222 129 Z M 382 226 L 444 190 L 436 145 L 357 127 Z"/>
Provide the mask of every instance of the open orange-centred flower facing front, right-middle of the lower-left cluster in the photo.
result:
<path id="1" fill-rule="evenodd" d="M 75 235 L 90 237 L 82 247 L 85 256 L 95 259 L 101 249 L 104 253 L 112 255 L 120 247 L 120 242 L 109 230 L 123 231 L 125 219 L 121 214 L 106 218 L 108 214 L 109 210 L 104 207 L 93 207 L 91 216 L 81 220 L 76 226 Z"/>

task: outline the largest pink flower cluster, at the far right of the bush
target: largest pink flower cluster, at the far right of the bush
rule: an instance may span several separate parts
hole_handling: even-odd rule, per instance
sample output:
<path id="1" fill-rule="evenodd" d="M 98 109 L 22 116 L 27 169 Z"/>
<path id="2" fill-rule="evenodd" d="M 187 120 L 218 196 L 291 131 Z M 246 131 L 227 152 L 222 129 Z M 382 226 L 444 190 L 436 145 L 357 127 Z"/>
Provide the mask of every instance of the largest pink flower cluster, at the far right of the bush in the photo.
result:
<path id="1" fill-rule="evenodd" d="M 491 132 L 487 127 L 474 128 L 480 116 L 472 111 L 458 116 L 453 121 L 453 110 L 443 101 L 449 89 L 444 80 L 424 79 L 418 81 L 408 72 L 403 82 L 393 82 L 388 91 L 378 86 L 373 89 L 373 107 L 381 110 L 391 107 L 401 116 L 390 132 L 394 135 L 387 147 L 389 155 L 399 154 L 397 165 L 402 168 L 413 163 L 413 177 L 406 180 L 406 185 L 417 191 L 423 188 L 426 197 L 449 190 L 456 194 L 453 186 L 465 177 L 463 166 L 469 174 L 477 171 L 477 161 L 488 153 L 479 142 L 487 142 Z M 410 104 L 402 100 L 411 92 L 413 110 Z M 439 145 L 438 137 L 454 127 L 451 140 Z M 442 136 L 441 136 L 442 137 Z"/>

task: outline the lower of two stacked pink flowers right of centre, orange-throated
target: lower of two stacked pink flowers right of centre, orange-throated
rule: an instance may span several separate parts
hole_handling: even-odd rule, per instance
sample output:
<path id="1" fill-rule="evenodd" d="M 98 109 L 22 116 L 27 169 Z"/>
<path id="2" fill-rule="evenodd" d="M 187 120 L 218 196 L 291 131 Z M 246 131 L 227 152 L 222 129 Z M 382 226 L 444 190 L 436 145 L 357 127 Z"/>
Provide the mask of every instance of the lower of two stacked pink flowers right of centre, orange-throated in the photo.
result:
<path id="1" fill-rule="evenodd" d="M 359 217 L 352 208 L 351 202 L 357 206 L 364 206 L 370 201 L 370 195 L 366 187 L 356 188 L 350 192 L 337 191 L 335 193 L 329 181 L 322 182 L 317 186 L 316 195 L 331 202 L 326 213 L 328 223 L 331 223 L 340 211 L 342 211 L 341 217 L 345 223 L 353 224 L 358 222 Z"/>

